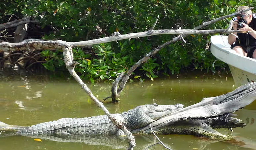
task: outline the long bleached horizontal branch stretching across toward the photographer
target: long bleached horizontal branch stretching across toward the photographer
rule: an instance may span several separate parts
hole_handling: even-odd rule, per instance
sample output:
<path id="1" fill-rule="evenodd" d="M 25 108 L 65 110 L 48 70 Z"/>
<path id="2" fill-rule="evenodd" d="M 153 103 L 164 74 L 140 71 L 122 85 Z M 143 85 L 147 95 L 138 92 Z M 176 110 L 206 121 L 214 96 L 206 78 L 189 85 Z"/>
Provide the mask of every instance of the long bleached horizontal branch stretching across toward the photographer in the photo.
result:
<path id="1" fill-rule="evenodd" d="M 121 35 L 118 32 L 115 32 L 110 37 L 99 38 L 94 40 L 88 41 L 80 41 L 80 42 L 66 42 L 69 45 L 73 46 L 86 46 L 86 45 L 93 45 L 99 43 L 107 43 L 117 40 L 129 39 L 129 38 L 137 38 L 137 37 L 146 37 L 146 36 L 153 36 L 153 35 L 161 35 L 161 34 L 178 34 L 184 37 L 184 34 L 211 34 L 211 33 L 232 33 L 232 32 L 240 32 L 240 33 L 248 33 L 246 31 L 241 30 L 227 30 L 227 29 L 214 29 L 214 30 L 188 30 L 188 29 L 180 29 L 180 30 L 153 30 L 150 33 L 148 31 L 145 32 L 138 32 L 138 33 L 129 33 Z M 56 41 L 27 41 L 27 42 L 20 42 L 20 43 L 8 43 L 2 42 L 0 43 L 0 51 L 15 51 L 15 50 L 26 50 L 31 51 L 34 49 L 42 50 L 42 49 L 57 49 L 60 48 L 57 45 L 61 43 L 61 40 Z"/>

